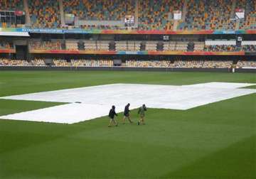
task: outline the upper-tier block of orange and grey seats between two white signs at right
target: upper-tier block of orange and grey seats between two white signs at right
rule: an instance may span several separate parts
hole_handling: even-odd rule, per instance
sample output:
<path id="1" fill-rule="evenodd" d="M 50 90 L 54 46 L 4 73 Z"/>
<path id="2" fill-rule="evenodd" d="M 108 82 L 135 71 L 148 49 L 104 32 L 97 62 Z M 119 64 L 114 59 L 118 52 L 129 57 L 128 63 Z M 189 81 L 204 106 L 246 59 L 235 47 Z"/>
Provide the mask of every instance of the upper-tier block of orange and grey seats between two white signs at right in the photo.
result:
<path id="1" fill-rule="evenodd" d="M 235 28 L 230 20 L 232 2 L 230 0 L 189 0 L 186 20 L 179 30 L 229 30 Z"/>

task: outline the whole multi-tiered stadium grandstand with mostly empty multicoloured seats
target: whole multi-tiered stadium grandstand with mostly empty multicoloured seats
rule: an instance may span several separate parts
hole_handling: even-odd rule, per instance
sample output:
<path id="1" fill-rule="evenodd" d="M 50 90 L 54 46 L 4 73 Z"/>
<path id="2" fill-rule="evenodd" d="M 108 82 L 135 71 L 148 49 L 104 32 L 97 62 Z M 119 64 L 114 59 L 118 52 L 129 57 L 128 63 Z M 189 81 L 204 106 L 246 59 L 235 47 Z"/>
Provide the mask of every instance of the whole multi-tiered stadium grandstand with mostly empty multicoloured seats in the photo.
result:
<path id="1" fill-rule="evenodd" d="M 255 69 L 253 0 L 0 0 L 1 66 Z"/>

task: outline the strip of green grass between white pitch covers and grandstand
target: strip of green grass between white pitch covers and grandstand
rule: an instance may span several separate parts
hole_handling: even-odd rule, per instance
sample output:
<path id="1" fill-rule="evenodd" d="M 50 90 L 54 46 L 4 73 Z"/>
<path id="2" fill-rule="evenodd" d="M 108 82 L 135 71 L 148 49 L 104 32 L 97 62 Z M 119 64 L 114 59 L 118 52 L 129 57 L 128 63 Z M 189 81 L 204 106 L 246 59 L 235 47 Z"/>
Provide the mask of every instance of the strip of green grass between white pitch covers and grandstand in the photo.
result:
<path id="1" fill-rule="evenodd" d="M 203 82 L 256 82 L 255 74 L 217 72 L 0 72 L 0 97 L 56 89 L 105 85 L 111 83 L 144 83 L 156 85 L 191 85 Z"/>

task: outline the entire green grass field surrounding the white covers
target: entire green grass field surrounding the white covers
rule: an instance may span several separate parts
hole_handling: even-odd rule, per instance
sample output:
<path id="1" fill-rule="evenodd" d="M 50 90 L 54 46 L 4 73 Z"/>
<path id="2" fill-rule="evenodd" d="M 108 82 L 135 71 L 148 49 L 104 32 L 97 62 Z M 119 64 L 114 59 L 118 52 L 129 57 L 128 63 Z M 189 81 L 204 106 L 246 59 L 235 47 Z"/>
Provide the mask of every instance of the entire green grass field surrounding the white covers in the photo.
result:
<path id="1" fill-rule="evenodd" d="M 4 71 L 0 96 L 120 82 L 256 83 L 256 75 Z M 58 104 L 0 99 L 0 115 Z M 149 109 L 145 126 L 107 123 L 107 117 L 72 125 L 0 119 L 0 178 L 256 178 L 256 94 L 186 111 Z"/>

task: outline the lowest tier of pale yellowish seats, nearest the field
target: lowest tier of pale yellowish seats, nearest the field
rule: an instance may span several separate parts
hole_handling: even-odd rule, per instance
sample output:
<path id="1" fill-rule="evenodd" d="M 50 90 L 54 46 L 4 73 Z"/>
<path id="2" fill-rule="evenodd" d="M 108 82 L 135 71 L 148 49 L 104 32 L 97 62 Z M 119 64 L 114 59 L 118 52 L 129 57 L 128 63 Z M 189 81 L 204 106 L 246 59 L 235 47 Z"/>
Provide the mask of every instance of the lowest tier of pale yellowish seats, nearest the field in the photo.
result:
<path id="1" fill-rule="evenodd" d="M 113 60 L 60 60 L 54 59 L 56 67 L 112 67 Z M 201 68 L 256 68 L 256 61 L 239 60 L 233 64 L 233 60 L 127 60 L 127 67 L 201 67 Z M 9 60 L 0 58 L 0 66 L 46 66 L 42 58 L 36 58 L 30 62 L 26 60 Z"/>

